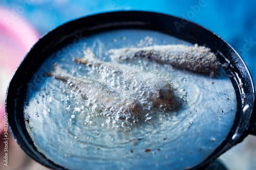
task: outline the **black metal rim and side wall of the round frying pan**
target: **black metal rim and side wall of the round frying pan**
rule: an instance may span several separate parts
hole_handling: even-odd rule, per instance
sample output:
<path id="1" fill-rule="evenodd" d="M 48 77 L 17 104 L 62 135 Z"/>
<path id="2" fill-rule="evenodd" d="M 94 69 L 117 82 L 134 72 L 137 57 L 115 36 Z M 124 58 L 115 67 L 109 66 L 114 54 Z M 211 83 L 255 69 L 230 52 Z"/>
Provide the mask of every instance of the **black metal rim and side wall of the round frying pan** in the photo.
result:
<path id="1" fill-rule="evenodd" d="M 70 21 L 44 35 L 15 71 L 6 94 L 5 107 L 9 128 L 20 147 L 34 160 L 52 169 L 65 169 L 38 152 L 25 127 L 24 98 L 27 83 L 34 72 L 52 52 L 73 42 L 74 38 L 78 37 L 79 40 L 80 35 L 87 36 L 118 29 L 153 30 L 193 44 L 206 45 L 214 53 L 221 51 L 219 60 L 221 63 L 228 63 L 225 71 L 232 75 L 230 80 L 238 103 L 234 123 L 219 147 L 202 163 L 191 167 L 192 169 L 205 168 L 233 145 L 243 141 L 248 134 L 256 135 L 255 92 L 251 76 L 239 54 L 220 36 L 196 23 L 171 15 L 145 11 L 108 12 Z"/>

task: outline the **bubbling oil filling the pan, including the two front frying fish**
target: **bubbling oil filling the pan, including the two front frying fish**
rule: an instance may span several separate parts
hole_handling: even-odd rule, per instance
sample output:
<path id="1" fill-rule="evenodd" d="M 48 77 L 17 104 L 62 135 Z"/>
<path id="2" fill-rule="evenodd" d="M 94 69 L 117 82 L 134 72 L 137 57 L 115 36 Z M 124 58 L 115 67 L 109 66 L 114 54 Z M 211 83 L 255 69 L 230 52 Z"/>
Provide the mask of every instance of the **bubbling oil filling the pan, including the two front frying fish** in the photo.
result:
<path id="1" fill-rule="evenodd" d="M 222 67 L 210 77 L 150 58 L 112 61 L 110 54 L 117 48 L 194 44 L 133 29 L 81 40 L 53 53 L 29 82 L 25 124 L 48 159 L 68 169 L 185 169 L 225 140 L 237 101 Z M 84 55 L 101 65 L 77 62 Z M 173 93 L 168 107 L 150 98 L 158 87 Z"/>

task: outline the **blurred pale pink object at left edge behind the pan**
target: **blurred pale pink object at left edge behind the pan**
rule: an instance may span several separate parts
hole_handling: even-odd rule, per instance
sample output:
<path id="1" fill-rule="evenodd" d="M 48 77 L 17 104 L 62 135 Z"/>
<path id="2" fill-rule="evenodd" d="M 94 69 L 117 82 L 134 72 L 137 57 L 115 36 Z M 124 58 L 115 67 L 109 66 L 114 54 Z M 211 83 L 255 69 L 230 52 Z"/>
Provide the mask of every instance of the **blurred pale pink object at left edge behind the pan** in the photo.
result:
<path id="1" fill-rule="evenodd" d="M 0 7 L 0 124 L 5 113 L 5 93 L 11 76 L 39 37 L 22 15 Z M 0 134 L 3 128 L 0 127 Z"/>

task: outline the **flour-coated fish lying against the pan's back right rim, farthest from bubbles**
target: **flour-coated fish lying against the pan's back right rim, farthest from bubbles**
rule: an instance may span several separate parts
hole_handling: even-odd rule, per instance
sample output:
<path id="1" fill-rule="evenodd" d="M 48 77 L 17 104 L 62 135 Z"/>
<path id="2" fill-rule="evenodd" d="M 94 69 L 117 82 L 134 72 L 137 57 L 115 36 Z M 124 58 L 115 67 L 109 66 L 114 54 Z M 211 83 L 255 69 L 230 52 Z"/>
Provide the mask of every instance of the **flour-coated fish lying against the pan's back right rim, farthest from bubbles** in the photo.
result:
<path id="1" fill-rule="evenodd" d="M 170 64 L 199 72 L 214 72 L 220 68 L 216 55 L 205 46 L 154 45 L 141 48 L 119 48 L 109 50 L 112 60 L 126 60 L 136 57 L 155 60 L 161 64 Z"/>

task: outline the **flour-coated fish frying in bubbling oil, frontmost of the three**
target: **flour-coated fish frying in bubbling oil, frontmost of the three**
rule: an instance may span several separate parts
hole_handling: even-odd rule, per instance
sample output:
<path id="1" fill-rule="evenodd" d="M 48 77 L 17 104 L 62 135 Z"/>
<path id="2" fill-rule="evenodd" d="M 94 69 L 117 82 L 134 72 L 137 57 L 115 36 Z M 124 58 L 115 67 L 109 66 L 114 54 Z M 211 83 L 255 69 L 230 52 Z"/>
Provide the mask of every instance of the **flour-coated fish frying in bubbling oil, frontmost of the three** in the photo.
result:
<path id="1" fill-rule="evenodd" d="M 134 116 L 142 113 L 142 106 L 139 101 L 131 99 L 130 96 L 120 94 L 102 82 L 88 78 L 73 77 L 58 65 L 54 66 L 49 75 L 68 83 L 72 89 L 78 89 L 85 100 L 93 101 L 94 104 L 98 105 L 97 110 L 106 108 L 112 113 L 121 111 Z"/>

